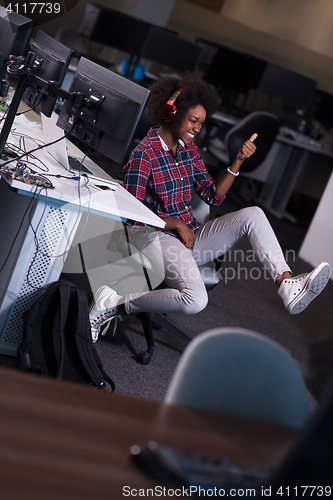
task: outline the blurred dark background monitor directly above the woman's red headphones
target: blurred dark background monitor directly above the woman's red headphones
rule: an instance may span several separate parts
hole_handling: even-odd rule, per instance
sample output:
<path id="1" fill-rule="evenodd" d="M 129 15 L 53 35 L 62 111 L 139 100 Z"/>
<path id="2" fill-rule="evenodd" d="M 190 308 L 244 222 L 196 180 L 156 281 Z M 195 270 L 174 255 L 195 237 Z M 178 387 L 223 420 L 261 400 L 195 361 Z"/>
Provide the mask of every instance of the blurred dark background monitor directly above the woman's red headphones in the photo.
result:
<path id="1" fill-rule="evenodd" d="M 195 71 L 201 47 L 163 28 L 152 26 L 140 53 L 151 61 L 181 73 Z"/>

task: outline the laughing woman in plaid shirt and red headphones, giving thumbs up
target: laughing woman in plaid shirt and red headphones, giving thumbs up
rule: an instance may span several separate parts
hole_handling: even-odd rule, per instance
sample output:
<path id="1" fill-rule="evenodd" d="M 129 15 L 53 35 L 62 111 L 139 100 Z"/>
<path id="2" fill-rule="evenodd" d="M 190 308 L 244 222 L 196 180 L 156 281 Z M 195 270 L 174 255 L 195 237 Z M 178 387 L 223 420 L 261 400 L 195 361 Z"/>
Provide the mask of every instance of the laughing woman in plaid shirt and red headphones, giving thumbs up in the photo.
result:
<path id="1" fill-rule="evenodd" d="M 277 284 L 289 313 L 303 311 L 327 284 L 327 263 L 292 278 L 273 229 L 258 207 L 243 208 L 203 225 L 194 219 L 192 188 L 206 203 L 220 205 L 243 161 L 256 150 L 254 133 L 242 145 L 225 175 L 216 184 L 213 182 L 193 139 L 219 102 L 215 89 L 194 75 L 183 80 L 161 78 L 152 86 L 148 112 L 157 127 L 150 129 L 132 152 L 124 167 L 124 187 L 143 203 L 149 194 L 146 204 L 165 222 L 164 230 L 156 231 L 136 223 L 132 233 L 135 245 L 153 261 L 155 252 L 156 268 L 162 260 L 161 281 L 164 279 L 168 288 L 125 296 L 108 286 L 99 288 L 90 312 L 94 341 L 103 324 L 124 313 L 201 311 L 207 305 L 207 292 L 198 265 L 221 256 L 243 236 L 249 238 Z"/>

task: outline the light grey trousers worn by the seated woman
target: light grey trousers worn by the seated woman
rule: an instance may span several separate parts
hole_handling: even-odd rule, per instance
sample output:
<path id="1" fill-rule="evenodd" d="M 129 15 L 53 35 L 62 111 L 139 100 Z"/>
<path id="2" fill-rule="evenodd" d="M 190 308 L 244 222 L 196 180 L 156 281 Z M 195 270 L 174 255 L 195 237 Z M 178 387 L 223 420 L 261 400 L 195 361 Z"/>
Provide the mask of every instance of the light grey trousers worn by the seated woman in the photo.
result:
<path id="1" fill-rule="evenodd" d="M 264 212 L 258 207 L 243 208 L 203 224 L 196 234 L 193 250 L 163 231 L 136 238 L 135 245 L 151 263 L 151 276 L 159 276 L 157 282 L 164 281 L 167 288 L 126 294 L 126 312 L 201 311 L 208 298 L 198 266 L 225 254 L 243 236 L 248 237 L 257 259 L 273 280 L 285 271 L 291 272 Z"/>

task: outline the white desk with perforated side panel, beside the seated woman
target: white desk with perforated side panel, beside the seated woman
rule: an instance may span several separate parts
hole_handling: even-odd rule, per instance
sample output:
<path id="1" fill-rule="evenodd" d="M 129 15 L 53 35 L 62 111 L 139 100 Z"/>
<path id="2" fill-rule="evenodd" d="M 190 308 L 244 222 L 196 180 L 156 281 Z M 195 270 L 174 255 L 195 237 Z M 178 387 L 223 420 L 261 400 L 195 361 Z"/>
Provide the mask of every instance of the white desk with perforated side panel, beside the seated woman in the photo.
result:
<path id="1" fill-rule="evenodd" d="M 36 117 L 33 113 L 31 121 L 36 121 Z M 59 129 L 59 137 L 62 133 Z M 27 151 L 36 147 L 36 140 L 47 142 L 38 123 L 32 127 L 14 122 L 10 137 L 17 139 L 17 135 L 23 134 L 32 137 L 26 138 Z M 82 152 L 69 142 L 68 149 L 73 156 L 82 157 Z M 50 173 L 68 175 L 47 150 L 34 154 Z M 87 166 L 99 177 L 111 179 L 93 162 L 87 162 Z M 37 167 L 34 169 L 38 171 Z M 54 189 L 47 190 L 17 180 L 0 182 L 0 266 L 5 263 L 0 284 L 3 354 L 16 356 L 22 336 L 22 314 L 35 302 L 41 287 L 58 279 L 84 211 L 110 218 L 110 232 L 114 220 L 134 219 L 157 227 L 165 225 L 120 184 L 115 191 L 112 187 L 104 191 L 98 188 L 101 182 L 92 180 L 81 187 L 74 179 L 52 177 L 51 180 Z"/>

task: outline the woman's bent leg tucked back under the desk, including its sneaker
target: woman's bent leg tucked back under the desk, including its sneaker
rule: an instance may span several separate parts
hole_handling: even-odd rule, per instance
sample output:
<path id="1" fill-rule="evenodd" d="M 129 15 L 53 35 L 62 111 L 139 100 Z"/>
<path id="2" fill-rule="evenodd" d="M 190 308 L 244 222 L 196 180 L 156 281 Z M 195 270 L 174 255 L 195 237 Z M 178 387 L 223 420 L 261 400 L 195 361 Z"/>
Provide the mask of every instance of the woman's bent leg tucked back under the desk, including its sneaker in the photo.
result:
<path id="1" fill-rule="evenodd" d="M 207 305 L 207 291 L 192 251 L 177 238 L 157 231 L 137 237 L 135 246 L 151 263 L 149 273 L 154 276 L 155 284 L 164 281 L 168 288 L 118 295 L 108 286 L 100 287 L 89 313 L 94 342 L 102 326 L 103 334 L 112 319 L 123 313 L 195 314 Z"/>

